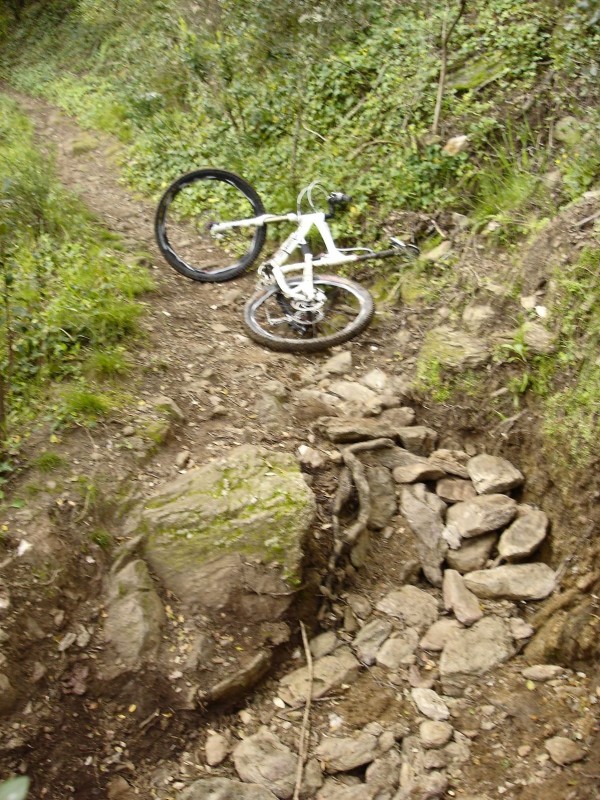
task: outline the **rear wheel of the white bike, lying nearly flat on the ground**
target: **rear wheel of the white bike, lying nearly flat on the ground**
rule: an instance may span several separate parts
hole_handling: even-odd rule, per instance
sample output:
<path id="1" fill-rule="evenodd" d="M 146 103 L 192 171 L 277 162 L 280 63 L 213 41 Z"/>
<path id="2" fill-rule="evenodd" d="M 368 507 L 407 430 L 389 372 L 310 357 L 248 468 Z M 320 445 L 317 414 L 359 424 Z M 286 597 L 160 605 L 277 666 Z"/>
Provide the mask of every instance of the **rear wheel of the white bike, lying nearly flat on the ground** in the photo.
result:
<path id="1" fill-rule="evenodd" d="M 299 278 L 289 281 L 291 287 Z M 258 291 L 246 304 L 244 325 L 255 342 L 271 350 L 314 353 L 347 342 L 373 318 L 373 298 L 358 283 L 337 275 L 319 275 L 315 288 L 325 295 L 319 311 L 294 309 L 279 286 Z"/>

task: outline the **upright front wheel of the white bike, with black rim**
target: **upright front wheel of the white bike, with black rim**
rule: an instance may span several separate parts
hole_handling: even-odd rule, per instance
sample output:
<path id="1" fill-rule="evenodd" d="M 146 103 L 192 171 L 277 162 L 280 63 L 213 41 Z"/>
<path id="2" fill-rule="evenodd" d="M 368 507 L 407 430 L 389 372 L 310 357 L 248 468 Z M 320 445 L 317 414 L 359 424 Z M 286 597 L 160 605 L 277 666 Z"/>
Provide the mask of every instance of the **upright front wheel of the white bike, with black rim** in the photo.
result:
<path id="1" fill-rule="evenodd" d="M 215 224 L 265 213 L 254 188 L 221 169 L 182 175 L 163 194 L 154 229 L 167 262 L 195 281 L 228 281 L 247 269 L 265 241 L 264 225 L 244 225 L 214 233 Z"/>

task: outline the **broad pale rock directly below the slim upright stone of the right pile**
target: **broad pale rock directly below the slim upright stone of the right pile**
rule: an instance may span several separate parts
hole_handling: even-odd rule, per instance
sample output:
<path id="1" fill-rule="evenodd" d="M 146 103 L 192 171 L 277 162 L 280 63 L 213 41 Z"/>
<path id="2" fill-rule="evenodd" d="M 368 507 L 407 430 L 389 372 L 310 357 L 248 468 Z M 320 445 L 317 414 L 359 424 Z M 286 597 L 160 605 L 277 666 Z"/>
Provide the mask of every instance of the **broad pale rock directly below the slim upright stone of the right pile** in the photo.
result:
<path id="1" fill-rule="evenodd" d="M 510 629 L 500 617 L 484 617 L 472 628 L 455 630 L 448 637 L 440 659 L 444 693 L 460 695 L 473 676 L 483 675 L 514 652 Z"/>

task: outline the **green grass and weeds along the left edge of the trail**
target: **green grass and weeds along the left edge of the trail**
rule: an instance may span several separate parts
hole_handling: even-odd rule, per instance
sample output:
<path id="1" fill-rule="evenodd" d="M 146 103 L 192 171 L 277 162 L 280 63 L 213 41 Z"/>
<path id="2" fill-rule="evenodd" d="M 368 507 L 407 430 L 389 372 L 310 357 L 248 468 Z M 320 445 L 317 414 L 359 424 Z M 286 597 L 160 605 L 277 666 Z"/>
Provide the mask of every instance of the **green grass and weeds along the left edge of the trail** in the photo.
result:
<path id="1" fill-rule="evenodd" d="M 88 383 L 126 371 L 120 343 L 152 282 L 60 186 L 5 98 L 0 120 L 0 452 L 10 455 L 42 409 L 79 421 L 110 410 Z"/>

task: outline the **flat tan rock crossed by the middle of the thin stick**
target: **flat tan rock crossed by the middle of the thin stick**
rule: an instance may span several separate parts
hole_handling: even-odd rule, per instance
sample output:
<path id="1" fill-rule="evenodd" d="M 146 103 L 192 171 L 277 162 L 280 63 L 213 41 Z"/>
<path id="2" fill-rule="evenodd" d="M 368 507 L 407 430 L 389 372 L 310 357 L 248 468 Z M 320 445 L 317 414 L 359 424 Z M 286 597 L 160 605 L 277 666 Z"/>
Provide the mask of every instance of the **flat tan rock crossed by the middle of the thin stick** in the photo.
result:
<path id="1" fill-rule="evenodd" d="M 311 697 L 322 697 L 342 683 L 352 683 L 358 677 L 360 664 L 347 647 L 339 647 L 333 655 L 324 656 L 315 662 L 311 685 L 308 667 L 285 675 L 279 683 L 279 696 L 290 706 L 306 701 L 308 691 Z"/>

